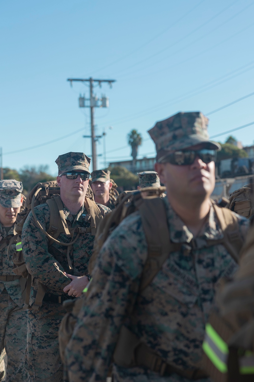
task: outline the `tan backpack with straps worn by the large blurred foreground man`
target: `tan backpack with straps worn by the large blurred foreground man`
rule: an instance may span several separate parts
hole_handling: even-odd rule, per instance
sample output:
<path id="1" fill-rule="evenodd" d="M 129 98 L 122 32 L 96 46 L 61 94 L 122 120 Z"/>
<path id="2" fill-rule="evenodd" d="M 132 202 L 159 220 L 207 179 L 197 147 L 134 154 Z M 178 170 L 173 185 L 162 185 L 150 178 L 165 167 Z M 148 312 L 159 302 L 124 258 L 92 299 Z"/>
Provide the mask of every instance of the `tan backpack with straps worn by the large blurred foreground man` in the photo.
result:
<path id="1" fill-rule="evenodd" d="M 164 188 L 161 189 L 161 192 Z M 169 238 L 168 222 L 163 199 L 157 196 L 148 196 L 143 198 L 140 191 L 127 194 L 125 199 L 121 201 L 119 206 L 99 225 L 96 242 L 94 244 L 94 253 L 89 261 L 89 272 L 94 268 L 97 254 L 99 253 L 105 240 L 110 233 L 125 219 L 128 215 L 139 210 L 142 220 L 142 227 L 148 244 L 148 254 L 145 266 L 142 272 L 140 292 L 142 292 L 152 282 L 155 275 L 161 269 L 163 263 L 169 254 L 181 248 L 181 243 L 173 243 Z M 214 206 L 215 213 L 220 223 L 220 227 L 224 234 L 221 240 L 207 240 L 208 246 L 222 244 L 231 254 L 235 261 L 238 261 L 238 253 L 242 246 L 242 240 L 239 233 L 238 220 L 228 209 L 222 208 L 211 201 Z M 89 289 L 88 289 L 89 293 Z M 82 300 L 76 301 L 74 308 L 78 312 L 82 304 Z M 76 313 L 77 314 L 77 313 Z M 59 330 L 59 347 L 64 362 L 64 349 L 70 340 L 72 331 L 75 326 L 77 316 L 69 313 L 62 320 Z M 69 325 L 68 325 L 69 323 Z M 135 356 L 134 356 L 135 353 Z M 125 326 L 122 326 L 118 337 L 117 346 L 113 356 L 114 362 L 123 367 L 132 367 L 135 364 L 144 364 L 150 366 L 164 363 L 161 358 L 153 353 L 146 345 L 142 344 L 139 338 L 130 332 Z M 134 361 L 135 360 L 135 361 Z M 149 364 L 146 364 L 148 360 Z M 185 376 L 185 375 L 184 375 Z M 189 374 L 186 377 L 190 377 Z"/>

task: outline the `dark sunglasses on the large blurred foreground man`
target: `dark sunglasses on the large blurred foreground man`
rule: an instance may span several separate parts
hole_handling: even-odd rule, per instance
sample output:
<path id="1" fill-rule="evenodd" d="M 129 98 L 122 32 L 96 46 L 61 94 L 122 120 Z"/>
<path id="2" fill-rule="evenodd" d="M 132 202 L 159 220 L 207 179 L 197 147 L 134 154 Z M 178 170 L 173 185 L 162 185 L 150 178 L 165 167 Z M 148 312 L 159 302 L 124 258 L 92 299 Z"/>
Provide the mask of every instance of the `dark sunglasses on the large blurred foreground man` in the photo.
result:
<path id="1" fill-rule="evenodd" d="M 186 151 L 175 151 L 172 154 L 169 154 L 161 163 L 169 162 L 172 165 L 186 166 L 192 165 L 196 159 L 199 157 L 202 162 L 210 163 L 215 162 L 216 160 L 216 150 L 186 150 Z M 160 162 L 160 160 L 159 160 Z"/>

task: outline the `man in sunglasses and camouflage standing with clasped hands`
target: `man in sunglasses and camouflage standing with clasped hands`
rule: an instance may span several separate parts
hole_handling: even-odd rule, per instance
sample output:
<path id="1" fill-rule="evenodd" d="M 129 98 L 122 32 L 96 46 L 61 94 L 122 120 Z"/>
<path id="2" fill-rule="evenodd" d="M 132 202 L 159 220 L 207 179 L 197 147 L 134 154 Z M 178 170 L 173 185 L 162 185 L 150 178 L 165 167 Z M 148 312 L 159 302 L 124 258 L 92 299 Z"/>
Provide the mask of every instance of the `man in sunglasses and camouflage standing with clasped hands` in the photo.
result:
<path id="1" fill-rule="evenodd" d="M 30 382 L 62 382 L 63 364 L 59 355 L 58 330 L 62 318 L 70 311 L 62 303 L 79 297 L 87 285 L 88 263 L 93 253 L 95 230 L 99 221 L 110 212 L 109 208 L 93 200 L 88 183 L 90 161 L 82 152 L 68 152 L 56 159 L 59 174 L 57 183 L 60 187 L 56 214 L 60 214 L 68 227 L 68 230 L 58 236 L 58 243 L 49 244 L 32 213 L 23 226 L 23 254 L 27 270 L 34 277 L 28 310 L 25 355 Z M 49 231 L 48 204 L 35 207 L 35 215 L 44 230 Z M 71 228 L 74 228 L 73 238 L 68 233 Z M 71 246 L 62 245 L 71 241 Z M 38 285 L 38 282 L 43 285 L 45 292 L 40 308 L 35 303 L 37 294 L 41 293 L 41 284 Z"/>

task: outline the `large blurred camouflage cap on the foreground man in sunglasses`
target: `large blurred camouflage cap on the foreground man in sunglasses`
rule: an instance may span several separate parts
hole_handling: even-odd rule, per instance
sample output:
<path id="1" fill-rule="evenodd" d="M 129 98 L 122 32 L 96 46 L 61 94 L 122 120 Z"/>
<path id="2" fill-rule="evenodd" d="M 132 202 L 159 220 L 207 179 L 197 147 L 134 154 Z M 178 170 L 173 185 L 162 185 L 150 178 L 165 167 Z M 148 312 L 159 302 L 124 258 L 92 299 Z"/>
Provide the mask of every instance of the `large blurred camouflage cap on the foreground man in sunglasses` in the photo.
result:
<path id="1" fill-rule="evenodd" d="M 206 148 L 220 150 L 217 142 L 209 141 L 208 118 L 201 112 L 181 112 L 159 121 L 148 131 L 157 152 L 157 161 L 169 152 L 204 143 Z"/>

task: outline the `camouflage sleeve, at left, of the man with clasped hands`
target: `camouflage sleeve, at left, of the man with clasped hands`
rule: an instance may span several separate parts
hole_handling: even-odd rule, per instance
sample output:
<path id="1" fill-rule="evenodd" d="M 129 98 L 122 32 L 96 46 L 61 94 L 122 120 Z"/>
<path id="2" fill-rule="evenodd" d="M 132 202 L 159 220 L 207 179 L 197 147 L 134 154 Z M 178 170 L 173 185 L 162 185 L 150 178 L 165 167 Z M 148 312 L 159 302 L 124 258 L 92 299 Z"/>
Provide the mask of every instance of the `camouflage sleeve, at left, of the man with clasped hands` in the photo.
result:
<path id="1" fill-rule="evenodd" d="M 45 212 L 47 214 L 47 210 L 43 213 L 42 206 L 36 209 L 37 218 L 46 230 Z M 35 224 L 32 212 L 23 226 L 22 246 L 27 270 L 37 280 L 56 291 L 62 291 L 70 283 L 57 269 L 64 272 L 62 265 L 48 252 L 48 239 Z"/>

